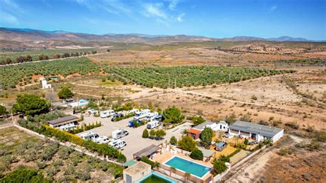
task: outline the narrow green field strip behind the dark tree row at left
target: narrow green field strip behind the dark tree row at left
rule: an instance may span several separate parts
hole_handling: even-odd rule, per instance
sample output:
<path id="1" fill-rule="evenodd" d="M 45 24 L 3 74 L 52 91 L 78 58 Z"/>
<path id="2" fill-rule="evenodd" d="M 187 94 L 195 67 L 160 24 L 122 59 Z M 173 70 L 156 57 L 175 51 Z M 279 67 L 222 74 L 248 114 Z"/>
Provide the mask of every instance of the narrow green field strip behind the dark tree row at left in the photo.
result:
<path id="1" fill-rule="evenodd" d="M 52 59 L 54 58 L 55 55 L 59 54 L 76 54 L 78 53 L 78 55 L 80 53 L 91 53 L 92 51 L 94 51 L 94 48 L 89 48 L 89 49 L 76 49 L 76 50 L 72 50 L 72 49 L 65 49 L 65 50 L 55 50 L 55 49 L 47 49 L 47 50 L 24 50 L 24 51 L 19 51 L 19 52 L 0 52 L 0 63 L 5 63 L 7 58 L 10 58 L 10 60 L 12 61 L 12 63 L 18 63 L 17 58 L 19 58 L 19 56 L 32 56 L 32 61 L 39 61 L 39 56 L 40 55 L 45 55 L 48 57 L 48 59 Z"/>

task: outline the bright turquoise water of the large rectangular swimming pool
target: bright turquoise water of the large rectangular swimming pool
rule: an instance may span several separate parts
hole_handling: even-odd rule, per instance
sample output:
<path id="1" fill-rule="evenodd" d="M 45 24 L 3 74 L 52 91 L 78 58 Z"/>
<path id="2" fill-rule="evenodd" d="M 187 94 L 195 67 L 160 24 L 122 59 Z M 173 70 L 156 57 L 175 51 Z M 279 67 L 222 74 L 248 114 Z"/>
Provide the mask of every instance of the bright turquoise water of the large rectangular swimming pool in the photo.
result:
<path id="1" fill-rule="evenodd" d="M 165 164 L 171 167 L 175 167 L 175 169 L 180 169 L 181 171 L 185 171 L 193 175 L 196 175 L 197 177 L 202 177 L 208 171 L 211 170 L 207 166 L 204 166 L 202 164 L 197 164 L 195 162 L 191 162 L 183 158 L 179 158 L 177 156 L 173 157 L 168 162 L 165 162 Z"/>

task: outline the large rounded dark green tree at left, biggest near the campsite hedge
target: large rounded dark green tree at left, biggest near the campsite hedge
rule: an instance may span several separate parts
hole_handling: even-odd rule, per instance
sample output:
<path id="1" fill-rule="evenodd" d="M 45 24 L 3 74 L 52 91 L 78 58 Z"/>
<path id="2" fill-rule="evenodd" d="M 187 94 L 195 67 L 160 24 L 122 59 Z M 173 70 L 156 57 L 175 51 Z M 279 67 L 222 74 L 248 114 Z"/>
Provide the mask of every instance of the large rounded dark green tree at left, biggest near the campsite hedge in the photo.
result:
<path id="1" fill-rule="evenodd" d="M 25 116 L 34 116 L 49 111 L 50 103 L 39 96 L 32 94 L 24 94 L 16 99 L 16 103 L 12 106 L 12 111 L 21 112 Z"/>

